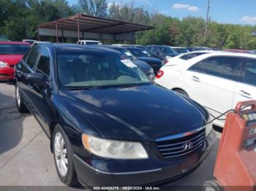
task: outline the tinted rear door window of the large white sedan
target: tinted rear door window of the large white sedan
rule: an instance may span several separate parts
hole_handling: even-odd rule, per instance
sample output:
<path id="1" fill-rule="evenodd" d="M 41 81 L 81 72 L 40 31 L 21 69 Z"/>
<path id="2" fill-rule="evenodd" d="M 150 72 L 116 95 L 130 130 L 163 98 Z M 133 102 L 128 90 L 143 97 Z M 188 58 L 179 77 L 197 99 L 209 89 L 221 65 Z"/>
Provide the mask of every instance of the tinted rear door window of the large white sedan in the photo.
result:
<path id="1" fill-rule="evenodd" d="M 240 58 L 216 56 L 211 57 L 204 63 L 204 72 L 206 74 L 222 77 L 225 79 L 235 79 L 236 69 L 238 68 Z"/>

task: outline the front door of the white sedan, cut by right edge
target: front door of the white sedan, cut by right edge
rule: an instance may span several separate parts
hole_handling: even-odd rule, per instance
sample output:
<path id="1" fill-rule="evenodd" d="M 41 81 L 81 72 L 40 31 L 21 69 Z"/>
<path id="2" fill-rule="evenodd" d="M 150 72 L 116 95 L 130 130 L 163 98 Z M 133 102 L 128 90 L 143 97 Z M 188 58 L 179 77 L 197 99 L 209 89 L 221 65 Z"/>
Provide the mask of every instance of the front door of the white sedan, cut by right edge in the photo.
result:
<path id="1" fill-rule="evenodd" d="M 237 83 L 233 108 L 238 101 L 256 99 L 256 59 L 244 58 L 241 81 Z"/>

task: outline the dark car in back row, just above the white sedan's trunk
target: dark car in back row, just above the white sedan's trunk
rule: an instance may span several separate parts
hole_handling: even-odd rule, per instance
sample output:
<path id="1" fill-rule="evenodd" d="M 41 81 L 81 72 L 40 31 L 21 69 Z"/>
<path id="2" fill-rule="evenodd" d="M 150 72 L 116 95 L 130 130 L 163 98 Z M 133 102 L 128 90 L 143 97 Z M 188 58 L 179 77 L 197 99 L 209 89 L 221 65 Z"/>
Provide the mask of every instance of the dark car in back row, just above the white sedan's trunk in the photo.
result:
<path id="1" fill-rule="evenodd" d="M 152 57 L 161 60 L 167 60 L 168 58 L 178 55 L 178 53 L 169 46 L 150 45 L 146 47 L 146 50 Z"/>

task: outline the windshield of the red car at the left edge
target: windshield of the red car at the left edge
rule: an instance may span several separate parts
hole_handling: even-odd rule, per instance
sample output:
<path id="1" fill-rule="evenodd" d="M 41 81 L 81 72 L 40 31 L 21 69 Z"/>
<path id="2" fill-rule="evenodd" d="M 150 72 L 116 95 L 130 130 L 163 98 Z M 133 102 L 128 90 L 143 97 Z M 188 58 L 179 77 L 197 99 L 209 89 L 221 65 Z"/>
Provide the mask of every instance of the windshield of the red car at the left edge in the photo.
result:
<path id="1" fill-rule="evenodd" d="M 0 55 L 24 55 L 29 49 L 26 44 L 0 44 Z"/>

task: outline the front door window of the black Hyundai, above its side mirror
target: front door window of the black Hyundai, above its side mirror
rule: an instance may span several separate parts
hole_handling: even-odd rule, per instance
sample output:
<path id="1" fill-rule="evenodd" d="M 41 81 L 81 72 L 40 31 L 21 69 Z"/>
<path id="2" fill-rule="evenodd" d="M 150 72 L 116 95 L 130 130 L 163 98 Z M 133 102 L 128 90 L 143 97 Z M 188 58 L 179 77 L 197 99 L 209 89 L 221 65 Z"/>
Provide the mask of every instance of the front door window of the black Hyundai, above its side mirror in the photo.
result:
<path id="1" fill-rule="evenodd" d="M 50 74 L 50 52 L 45 47 L 40 47 L 41 55 L 37 63 L 37 72 L 49 76 Z"/>

